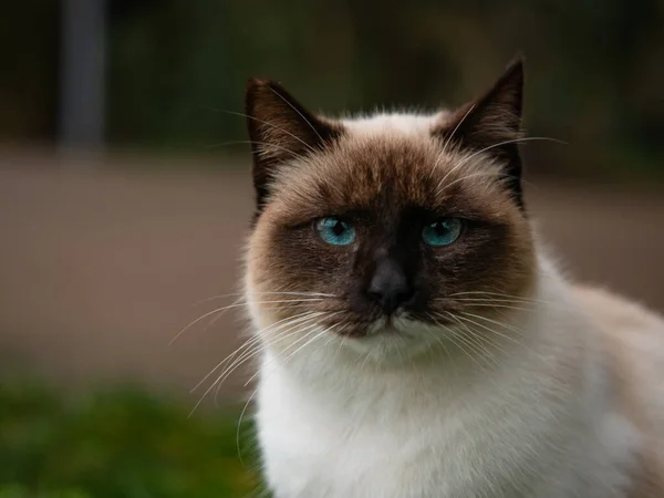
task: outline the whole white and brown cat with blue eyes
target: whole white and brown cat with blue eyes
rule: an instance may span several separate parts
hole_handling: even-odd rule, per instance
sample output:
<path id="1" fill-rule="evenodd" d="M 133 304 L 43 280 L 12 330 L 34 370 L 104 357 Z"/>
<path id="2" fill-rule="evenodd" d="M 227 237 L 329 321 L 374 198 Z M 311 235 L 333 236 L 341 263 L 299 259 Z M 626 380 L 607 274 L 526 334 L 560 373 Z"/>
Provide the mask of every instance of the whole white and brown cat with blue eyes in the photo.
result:
<path id="1" fill-rule="evenodd" d="M 517 58 L 458 110 L 332 120 L 250 80 L 276 498 L 664 497 L 664 320 L 548 256 L 522 89 Z"/>

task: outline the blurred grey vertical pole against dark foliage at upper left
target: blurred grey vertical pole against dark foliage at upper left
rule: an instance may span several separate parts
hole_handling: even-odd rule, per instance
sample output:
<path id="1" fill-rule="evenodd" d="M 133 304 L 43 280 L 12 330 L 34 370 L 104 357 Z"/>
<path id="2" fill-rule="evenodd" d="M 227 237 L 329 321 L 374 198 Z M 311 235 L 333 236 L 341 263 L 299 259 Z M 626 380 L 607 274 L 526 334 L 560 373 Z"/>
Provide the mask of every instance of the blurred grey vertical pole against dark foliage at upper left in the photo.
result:
<path id="1" fill-rule="evenodd" d="M 61 0 L 60 145 L 100 148 L 104 141 L 106 0 Z"/>

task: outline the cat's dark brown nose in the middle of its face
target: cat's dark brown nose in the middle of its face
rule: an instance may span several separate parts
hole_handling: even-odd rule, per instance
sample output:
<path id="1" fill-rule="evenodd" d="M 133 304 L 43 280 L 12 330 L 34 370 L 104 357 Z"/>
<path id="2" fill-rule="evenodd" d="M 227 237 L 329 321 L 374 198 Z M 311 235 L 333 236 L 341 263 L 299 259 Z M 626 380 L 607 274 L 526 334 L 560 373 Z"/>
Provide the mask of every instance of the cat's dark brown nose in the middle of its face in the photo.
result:
<path id="1" fill-rule="evenodd" d="M 413 298 L 414 289 L 404 268 L 393 259 L 384 259 L 376 264 L 366 293 L 385 313 L 393 313 Z"/>

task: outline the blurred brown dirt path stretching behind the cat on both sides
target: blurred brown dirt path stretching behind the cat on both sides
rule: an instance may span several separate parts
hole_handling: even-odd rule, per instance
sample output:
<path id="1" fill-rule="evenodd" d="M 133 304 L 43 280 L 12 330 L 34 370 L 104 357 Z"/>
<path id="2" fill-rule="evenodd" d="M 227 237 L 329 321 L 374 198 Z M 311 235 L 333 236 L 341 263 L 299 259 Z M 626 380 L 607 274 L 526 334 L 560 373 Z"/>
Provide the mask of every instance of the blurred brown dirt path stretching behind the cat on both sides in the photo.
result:
<path id="1" fill-rule="evenodd" d="M 138 378 L 184 394 L 243 329 L 228 313 L 168 347 L 235 299 L 193 307 L 237 291 L 248 175 L 49 163 L 0 156 L 0 361 L 61 385 Z M 529 204 L 574 276 L 664 310 L 662 196 L 536 183 Z"/>

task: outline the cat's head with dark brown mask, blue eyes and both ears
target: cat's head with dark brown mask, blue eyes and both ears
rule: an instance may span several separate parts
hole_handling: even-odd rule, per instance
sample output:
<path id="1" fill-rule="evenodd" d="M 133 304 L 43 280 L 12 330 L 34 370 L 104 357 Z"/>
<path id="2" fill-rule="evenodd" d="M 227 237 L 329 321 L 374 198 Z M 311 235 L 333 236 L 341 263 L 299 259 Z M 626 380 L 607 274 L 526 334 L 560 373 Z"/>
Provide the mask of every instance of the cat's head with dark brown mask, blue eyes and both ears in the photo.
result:
<path id="1" fill-rule="evenodd" d="M 509 312 L 535 274 L 516 142 L 522 84 L 519 59 L 454 112 L 338 121 L 250 81 L 246 284 L 259 333 L 419 350 Z"/>

